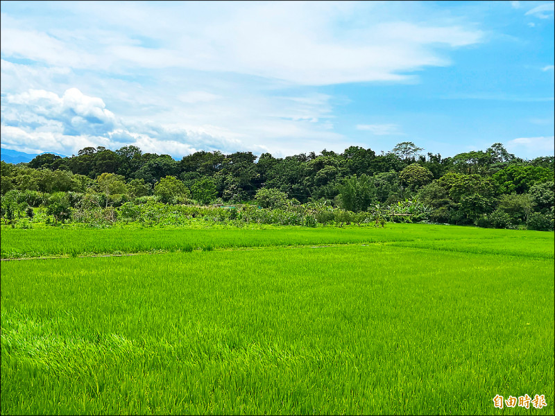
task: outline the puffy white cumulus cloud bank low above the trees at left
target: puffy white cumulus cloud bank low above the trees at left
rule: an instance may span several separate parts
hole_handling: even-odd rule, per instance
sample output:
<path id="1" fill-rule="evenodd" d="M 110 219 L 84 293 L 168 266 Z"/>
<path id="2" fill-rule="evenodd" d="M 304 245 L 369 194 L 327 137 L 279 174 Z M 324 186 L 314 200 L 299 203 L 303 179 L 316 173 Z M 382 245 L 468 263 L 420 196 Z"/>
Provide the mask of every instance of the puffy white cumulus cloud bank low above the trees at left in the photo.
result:
<path id="1" fill-rule="evenodd" d="M 198 149 L 235 151 L 242 144 L 202 128 L 117 118 L 102 98 L 77 88 L 62 96 L 44 89 L 6 94 L 2 105 L 2 145 L 24 152 L 77 153 L 87 146 L 116 149 L 133 144 L 146 152 L 187 155 Z"/>

